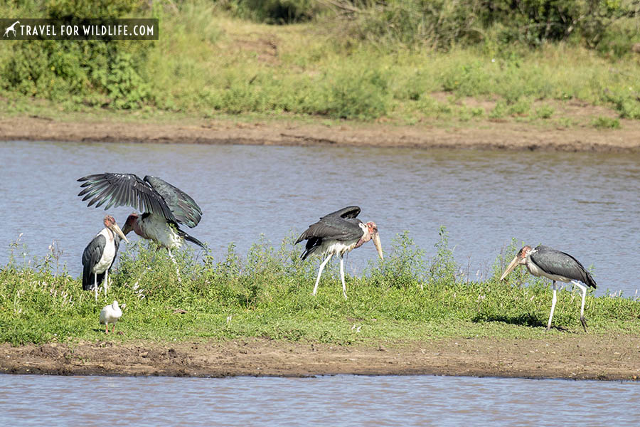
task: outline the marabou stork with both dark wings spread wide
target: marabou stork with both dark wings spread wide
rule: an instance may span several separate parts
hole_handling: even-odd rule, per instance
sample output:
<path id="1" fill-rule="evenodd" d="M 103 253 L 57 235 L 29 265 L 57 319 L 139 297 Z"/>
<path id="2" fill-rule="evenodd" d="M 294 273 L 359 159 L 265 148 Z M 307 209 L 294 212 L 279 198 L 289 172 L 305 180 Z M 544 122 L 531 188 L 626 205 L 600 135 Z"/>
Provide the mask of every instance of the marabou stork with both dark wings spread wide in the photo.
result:
<path id="1" fill-rule="evenodd" d="M 89 205 L 105 209 L 112 206 L 132 206 L 144 211 L 139 215 L 129 215 L 122 228 L 126 235 L 134 231 L 142 238 L 151 239 L 162 248 L 166 248 L 169 257 L 176 265 L 178 282 L 180 271 L 178 263 L 171 254 L 171 249 L 182 246 L 184 241 L 196 243 L 204 248 L 204 244 L 181 230 L 178 223 L 193 228 L 200 222 L 202 211 L 191 196 L 177 189 L 163 179 L 155 176 L 144 176 L 144 180 L 135 174 L 95 174 L 78 179 L 83 182 L 82 201 L 89 200 Z"/>

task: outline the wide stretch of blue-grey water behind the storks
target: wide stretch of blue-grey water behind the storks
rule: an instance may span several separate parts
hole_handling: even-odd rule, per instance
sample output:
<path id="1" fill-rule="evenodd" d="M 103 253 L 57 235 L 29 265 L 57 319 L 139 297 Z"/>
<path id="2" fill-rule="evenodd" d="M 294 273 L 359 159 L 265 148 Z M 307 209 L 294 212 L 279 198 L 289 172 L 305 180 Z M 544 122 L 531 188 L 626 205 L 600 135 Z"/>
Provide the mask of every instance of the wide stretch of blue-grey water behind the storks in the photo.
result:
<path id="1" fill-rule="evenodd" d="M 634 296 L 640 288 L 638 154 L 0 142 L 0 158 L 0 265 L 21 234 L 18 260 L 24 252 L 43 257 L 55 240 L 60 263 L 79 275 L 105 211 L 87 209 L 76 179 L 131 172 L 190 194 L 204 213 L 190 233 L 218 257 L 230 242 L 246 253 L 261 233 L 279 245 L 319 216 L 358 204 L 364 221 L 378 223 L 386 249 L 408 230 L 430 258 L 446 226 L 472 280 L 491 273 L 516 238 L 518 246 L 543 243 L 592 265 L 596 295 Z M 131 211 L 110 210 L 121 226 Z M 369 258 L 371 244 L 353 251 L 347 271 L 359 273 Z"/>

